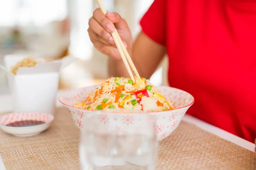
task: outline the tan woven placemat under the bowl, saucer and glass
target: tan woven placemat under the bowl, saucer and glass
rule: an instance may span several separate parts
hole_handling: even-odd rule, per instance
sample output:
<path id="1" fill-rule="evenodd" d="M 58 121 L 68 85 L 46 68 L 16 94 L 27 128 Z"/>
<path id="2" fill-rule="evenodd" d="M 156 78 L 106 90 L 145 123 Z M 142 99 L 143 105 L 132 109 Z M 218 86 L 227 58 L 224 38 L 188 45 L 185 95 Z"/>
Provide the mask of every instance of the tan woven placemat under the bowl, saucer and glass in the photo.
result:
<path id="1" fill-rule="evenodd" d="M 79 130 L 64 108 L 38 136 L 0 131 L 0 154 L 7 170 L 79 170 Z M 255 170 L 255 153 L 180 122 L 159 144 L 158 170 Z"/>

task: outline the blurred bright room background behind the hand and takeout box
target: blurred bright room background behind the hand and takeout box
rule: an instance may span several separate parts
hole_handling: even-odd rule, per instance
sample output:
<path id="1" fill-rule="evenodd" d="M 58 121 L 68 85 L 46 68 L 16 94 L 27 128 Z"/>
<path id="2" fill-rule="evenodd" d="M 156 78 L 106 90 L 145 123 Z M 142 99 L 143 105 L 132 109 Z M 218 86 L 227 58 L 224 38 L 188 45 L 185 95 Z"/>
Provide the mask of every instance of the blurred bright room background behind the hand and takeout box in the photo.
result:
<path id="1" fill-rule="evenodd" d="M 108 11 L 127 20 L 135 38 L 139 21 L 154 0 L 102 0 Z M 95 0 L 0 0 L 0 64 L 6 54 L 31 57 L 79 58 L 61 71 L 61 88 L 83 87 L 90 79 L 107 79 L 107 57 L 96 51 L 87 34 Z M 166 59 L 151 77 L 166 83 Z M 8 91 L 6 73 L 0 70 L 0 93 Z"/>

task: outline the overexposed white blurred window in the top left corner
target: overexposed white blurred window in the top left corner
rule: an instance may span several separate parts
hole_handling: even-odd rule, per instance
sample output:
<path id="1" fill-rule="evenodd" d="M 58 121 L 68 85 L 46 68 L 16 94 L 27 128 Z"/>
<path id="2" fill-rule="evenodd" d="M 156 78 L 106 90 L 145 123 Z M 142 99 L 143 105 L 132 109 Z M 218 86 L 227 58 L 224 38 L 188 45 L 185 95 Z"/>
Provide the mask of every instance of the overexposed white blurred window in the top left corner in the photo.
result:
<path id="1" fill-rule="evenodd" d="M 67 17 L 67 0 L 0 0 L 0 16 L 0 26 L 44 26 Z"/>

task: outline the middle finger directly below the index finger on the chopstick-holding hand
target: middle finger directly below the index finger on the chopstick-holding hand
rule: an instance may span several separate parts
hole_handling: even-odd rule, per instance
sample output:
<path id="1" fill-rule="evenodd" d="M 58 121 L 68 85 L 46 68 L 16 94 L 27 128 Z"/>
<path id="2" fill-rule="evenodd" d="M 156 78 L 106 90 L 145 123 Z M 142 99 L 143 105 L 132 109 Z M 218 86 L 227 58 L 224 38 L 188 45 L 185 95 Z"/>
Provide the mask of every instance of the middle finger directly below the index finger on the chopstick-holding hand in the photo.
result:
<path id="1" fill-rule="evenodd" d="M 105 42 L 108 42 L 107 44 L 115 44 L 111 34 L 108 31 L 106 31 L 93 17 L 89 20 L 88 32 L 89 31 L 92 31 L 92 33 L 94 32 L 95 34 L 97 34 L 97 39 L 101 37 L 101 39 L 105 40 Z"/>

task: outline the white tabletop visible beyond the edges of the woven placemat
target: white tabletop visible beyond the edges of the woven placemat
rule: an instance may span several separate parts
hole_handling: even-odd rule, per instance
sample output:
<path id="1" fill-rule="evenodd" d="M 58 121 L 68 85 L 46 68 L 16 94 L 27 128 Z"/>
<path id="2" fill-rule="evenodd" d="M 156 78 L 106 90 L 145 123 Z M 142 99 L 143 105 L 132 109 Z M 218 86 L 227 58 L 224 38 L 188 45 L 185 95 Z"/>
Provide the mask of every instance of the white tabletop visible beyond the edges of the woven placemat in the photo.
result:
<path id="1" fill-rule="evenodd" d="M 58 95 L 62 93 L 64 93 L 64 90 L 58 91 Z M 10 94 L 5 94 L 0 96 L 0 103 L 1 103 L 0 112 L 7 112 L 12 110 L 12 102 L 11 102 Z M 56 106 L 62 107 L 58 99 L 56 99 Z M 235 136 L 227 131 L 224 131 L 218 127 L 215 127 L 206 122 L 203 122 L 193 116 L 189 116 L 185 114 L 185 116 L 183 117 L 183 121 L 189 122 L 191 124 L 195 124 L 196 126 L 200 127 L 203 130 L 206 130 L 209 133 L 215 134 L 216 136 L 226 139 L 227 141 L 233 142 L 234 144 L 244 147 L 247 150 L 255 152 L 255 144 L 248 142 L 247 140 L 244 140 L 238 136 Z M 0 170 L 5 170 L 1 156 L 0 156 Z"/>

